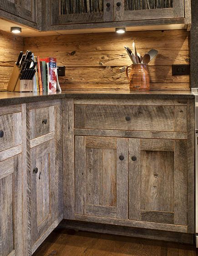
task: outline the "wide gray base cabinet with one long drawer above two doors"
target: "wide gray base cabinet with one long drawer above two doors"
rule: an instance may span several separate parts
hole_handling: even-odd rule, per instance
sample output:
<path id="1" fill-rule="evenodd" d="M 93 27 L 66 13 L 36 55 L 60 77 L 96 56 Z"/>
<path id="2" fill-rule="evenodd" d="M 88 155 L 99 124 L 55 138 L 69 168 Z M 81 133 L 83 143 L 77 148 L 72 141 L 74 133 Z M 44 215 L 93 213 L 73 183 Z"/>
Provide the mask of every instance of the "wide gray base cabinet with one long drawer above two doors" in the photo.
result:
<path id="1" fill-rule="evenodd" d="M 71 104 L 63 151 L 74 165 L 63 166 L 64 218 L 193 234 L 193 100 Z"/>

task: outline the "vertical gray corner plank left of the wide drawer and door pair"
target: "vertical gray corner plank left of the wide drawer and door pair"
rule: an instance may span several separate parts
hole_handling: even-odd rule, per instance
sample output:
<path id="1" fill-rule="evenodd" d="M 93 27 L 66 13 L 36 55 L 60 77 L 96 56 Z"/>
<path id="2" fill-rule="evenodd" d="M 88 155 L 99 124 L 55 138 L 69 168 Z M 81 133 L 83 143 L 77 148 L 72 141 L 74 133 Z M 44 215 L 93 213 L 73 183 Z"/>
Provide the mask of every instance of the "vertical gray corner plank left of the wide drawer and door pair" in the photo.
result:
<path id="1" fill-rule="evenodd" d="M 74 107 L 73 99 L 62 99 L 63 146 L 63 200 L 64 218 L 74 219 L 75 170 L 74 170 Z M 69 159 L 69 161 L 68 161 Z"/>

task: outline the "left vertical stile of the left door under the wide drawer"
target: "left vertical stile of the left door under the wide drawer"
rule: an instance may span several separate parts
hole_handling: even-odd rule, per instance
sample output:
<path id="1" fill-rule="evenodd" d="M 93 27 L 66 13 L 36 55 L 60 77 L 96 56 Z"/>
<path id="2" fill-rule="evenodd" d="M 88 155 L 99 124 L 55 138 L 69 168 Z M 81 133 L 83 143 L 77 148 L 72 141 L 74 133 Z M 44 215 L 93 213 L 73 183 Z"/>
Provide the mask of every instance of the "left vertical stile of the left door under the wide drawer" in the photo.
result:
<path id="1" fill-rule="evenodd" d="M 75 212 L 85 214 L 86 144 L 83 136 L 75 136 L 75 155 Z"/>

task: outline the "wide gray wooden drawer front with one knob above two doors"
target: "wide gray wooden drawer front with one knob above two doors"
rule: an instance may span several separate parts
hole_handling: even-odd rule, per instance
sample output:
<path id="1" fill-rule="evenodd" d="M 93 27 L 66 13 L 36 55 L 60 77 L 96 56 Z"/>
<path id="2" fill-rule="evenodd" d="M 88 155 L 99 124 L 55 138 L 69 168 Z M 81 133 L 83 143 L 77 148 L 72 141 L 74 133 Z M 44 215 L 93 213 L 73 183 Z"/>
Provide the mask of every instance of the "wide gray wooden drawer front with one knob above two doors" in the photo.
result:
<path id="1" fill-rule="evenodd" d="M 75 128 L 187 131 L 187 107 L 75 104 Z"/>

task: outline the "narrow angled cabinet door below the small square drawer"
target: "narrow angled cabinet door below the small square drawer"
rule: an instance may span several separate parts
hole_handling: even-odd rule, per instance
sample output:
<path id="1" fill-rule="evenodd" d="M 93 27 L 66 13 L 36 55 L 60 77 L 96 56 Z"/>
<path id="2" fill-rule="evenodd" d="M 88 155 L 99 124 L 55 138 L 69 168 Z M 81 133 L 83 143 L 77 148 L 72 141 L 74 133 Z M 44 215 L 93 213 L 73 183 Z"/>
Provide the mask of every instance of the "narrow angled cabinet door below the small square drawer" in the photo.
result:
<path id="1" fill-rule="evenodd" d="M 31 240 L 32 247 L 57 217 L 55 141 L 31 148 Z"/>

